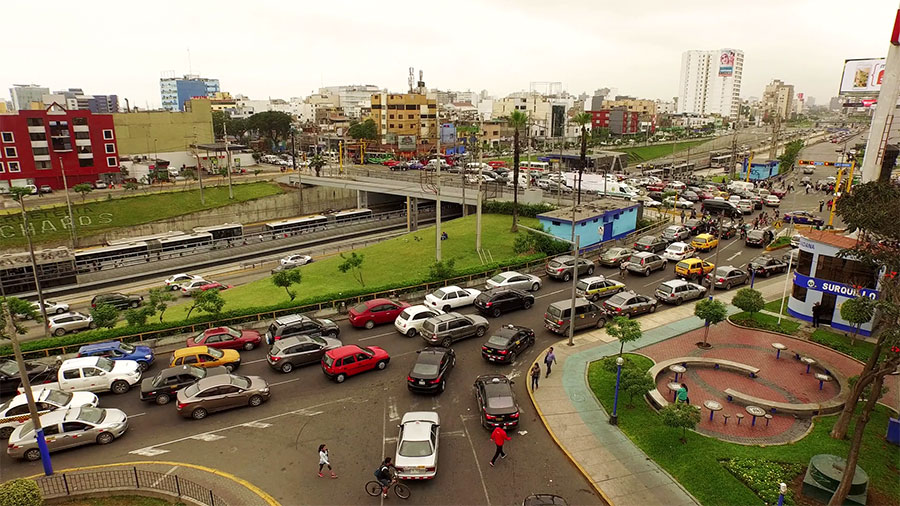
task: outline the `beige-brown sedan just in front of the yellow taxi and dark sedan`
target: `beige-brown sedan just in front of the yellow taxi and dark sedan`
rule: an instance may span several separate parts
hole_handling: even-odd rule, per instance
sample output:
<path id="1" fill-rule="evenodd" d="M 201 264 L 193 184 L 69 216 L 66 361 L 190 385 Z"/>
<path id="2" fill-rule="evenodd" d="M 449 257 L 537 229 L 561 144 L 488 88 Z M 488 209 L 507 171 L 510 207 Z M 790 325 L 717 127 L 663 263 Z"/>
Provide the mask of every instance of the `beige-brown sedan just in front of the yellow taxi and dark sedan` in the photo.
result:
<path id="1" fill-rule="evenodd" d="M 202 420 L 216 411 L 261 405 L 269 400 L 269 383 L 259 376 L 217 374 L 182 388 L 176 396 L 179 415 Z"/>

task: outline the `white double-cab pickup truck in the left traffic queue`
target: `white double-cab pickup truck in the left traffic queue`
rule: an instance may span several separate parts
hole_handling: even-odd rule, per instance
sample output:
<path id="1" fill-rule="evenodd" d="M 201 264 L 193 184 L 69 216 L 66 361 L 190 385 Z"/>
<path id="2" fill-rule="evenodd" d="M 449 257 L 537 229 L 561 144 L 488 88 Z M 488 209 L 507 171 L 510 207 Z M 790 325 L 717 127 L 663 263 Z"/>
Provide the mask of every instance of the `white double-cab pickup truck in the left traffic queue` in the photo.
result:
<path id="1" fill-rule="evenodd" d="M 35 385 L 33 390 L 52 388 L 63 392 L 113 392 L 124 394 L 141 381 L 141 369 L 134 360 L 81 357 L 59 366 L 56 383 Z M 19 393 L 23 393 L 19 387 Z"/>

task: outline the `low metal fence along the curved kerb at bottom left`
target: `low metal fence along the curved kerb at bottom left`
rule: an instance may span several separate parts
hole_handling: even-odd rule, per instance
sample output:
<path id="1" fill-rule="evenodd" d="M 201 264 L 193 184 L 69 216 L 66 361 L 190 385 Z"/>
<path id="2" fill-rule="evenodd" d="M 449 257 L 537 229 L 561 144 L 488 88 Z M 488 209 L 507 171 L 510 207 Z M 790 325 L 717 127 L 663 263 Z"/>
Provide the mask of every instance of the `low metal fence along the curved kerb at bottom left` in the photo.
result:
<path id="1" fill-rule="evenodd" d="M 208 506 L 227 506 L 221 497 L 176 474 L 147 471 L 137 467 L 58 473 L 36 478 L 45 499 L 110 490 L 152 490 Z"/>

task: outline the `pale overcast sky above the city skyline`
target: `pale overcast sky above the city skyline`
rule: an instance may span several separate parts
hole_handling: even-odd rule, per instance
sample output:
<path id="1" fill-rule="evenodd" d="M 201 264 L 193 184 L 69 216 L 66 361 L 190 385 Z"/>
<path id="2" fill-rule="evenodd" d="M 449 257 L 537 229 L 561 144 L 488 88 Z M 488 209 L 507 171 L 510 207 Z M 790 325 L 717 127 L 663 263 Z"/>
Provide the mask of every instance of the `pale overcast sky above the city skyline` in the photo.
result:
<path id="1" fill-rule="evenodd" d="M 119 95 L 159 107 L 163 72 L 218 78 L 265 99 L 320 86 L 429 88 L 502 96 L 532 81 L 571 93 L 615 87 L 671 100 L 681 53 L 745 53 L 743 97 L 772 79 L 827 103 L 846 58 L 883 57 L 897 0 L 267 0 L 4 6 L 0 96 L 13 83 Z M 10 42 L 12 45 L 10 46 Z M 190 63 L 188 58 L 190 50 Z M 124 106 L 124 102 L 123 102 Z"/>

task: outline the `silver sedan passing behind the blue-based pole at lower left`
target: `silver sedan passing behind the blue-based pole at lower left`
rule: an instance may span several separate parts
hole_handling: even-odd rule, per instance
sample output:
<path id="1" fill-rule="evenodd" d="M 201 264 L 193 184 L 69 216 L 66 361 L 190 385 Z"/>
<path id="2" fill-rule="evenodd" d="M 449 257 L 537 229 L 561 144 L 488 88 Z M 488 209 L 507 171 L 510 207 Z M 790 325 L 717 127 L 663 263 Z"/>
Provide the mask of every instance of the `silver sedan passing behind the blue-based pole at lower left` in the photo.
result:
<path id="1" fill-rule="evenodd" d="M 81 406 L 43 414 L 40 424 L 47 450 L 55 452 L 91 443 L 111 443 L 128 430 L 128 416 L 114 408 Z M 13 430 L 6 453 L 14 459 L 40 460 L 41 451 L 31 420 Z"/>

